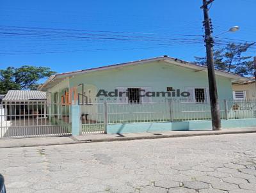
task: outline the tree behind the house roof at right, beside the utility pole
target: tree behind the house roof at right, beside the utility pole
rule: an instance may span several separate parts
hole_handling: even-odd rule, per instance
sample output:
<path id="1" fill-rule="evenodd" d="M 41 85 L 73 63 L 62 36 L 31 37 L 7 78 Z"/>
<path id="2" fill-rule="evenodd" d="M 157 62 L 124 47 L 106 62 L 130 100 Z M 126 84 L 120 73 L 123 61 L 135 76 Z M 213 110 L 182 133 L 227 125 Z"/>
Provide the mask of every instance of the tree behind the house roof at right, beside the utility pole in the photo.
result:
<path id="1" fill-rule="evenodd" d="M 215 68 L 242 76 L 252 76 L 252 56 L 242 56 L 252 45 L 254 43 L 228 43 L 226 47 L 214 50 Z M 205 58 L 195 56 L 195 59 L 194 63 L 206 66 Z"/>

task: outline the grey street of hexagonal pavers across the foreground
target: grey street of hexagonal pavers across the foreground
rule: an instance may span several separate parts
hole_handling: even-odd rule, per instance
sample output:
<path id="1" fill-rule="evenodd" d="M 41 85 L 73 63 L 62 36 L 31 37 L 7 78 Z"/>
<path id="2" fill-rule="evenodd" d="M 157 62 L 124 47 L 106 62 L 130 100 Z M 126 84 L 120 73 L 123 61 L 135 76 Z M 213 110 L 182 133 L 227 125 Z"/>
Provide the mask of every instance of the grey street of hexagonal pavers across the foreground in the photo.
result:
<path id="1" fill-rule="evenodd" d="M 0 149 L 13 192 L 255 192 L 256 134 Z"/>

